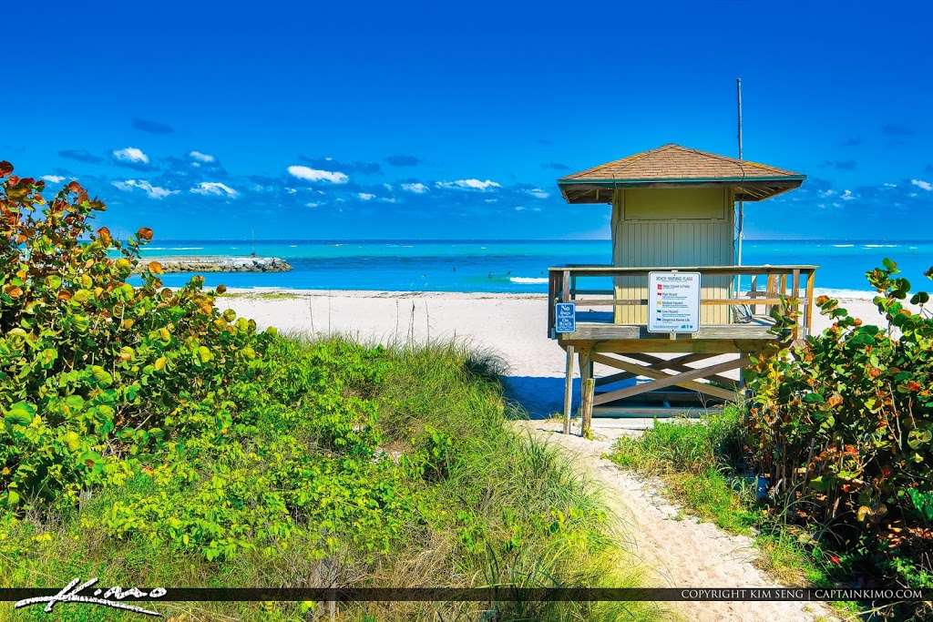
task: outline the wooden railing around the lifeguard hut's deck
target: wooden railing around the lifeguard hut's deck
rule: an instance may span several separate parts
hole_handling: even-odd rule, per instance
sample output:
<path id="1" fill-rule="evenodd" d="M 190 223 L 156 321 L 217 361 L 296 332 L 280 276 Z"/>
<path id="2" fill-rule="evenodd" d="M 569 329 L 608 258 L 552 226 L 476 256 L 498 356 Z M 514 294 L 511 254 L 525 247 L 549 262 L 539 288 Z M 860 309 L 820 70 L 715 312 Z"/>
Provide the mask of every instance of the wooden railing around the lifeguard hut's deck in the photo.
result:
<path id="1" fill-rule="evenodd" d="M 728 277 L 729 296 L 701 298 L 702 306 L 727 305 L 748 308 L 751 315 L 771 312 L 773 305 L 786 299 L 788 305 L 796 307 L 800 314 L 799 325 L 804 334 L 810 334 L 813 328 L 814 279 L 817 266 L 675 266 L 652 268 L 620 268 L 601 265 L 567 265 L 549 269 L 548 279 L 548 331 L 554 335 L 555 310 L 558 302 L 575 302 L 578 307 L 611 307 L 615 310 L 624 306 L 648 306 L 648 298 L 616 297 L 615 288 L 582 288 L 581 279 L 594 277 L 645 277 L 644 285 L 624 285 L 625 289 L 648 286 L 648 272 L 700 272 L 701 282 L 704 277 L 717 277 L 720 281 Z M 744 283 L 748 289 L 742 291 Z M 609 297 L 604 297 L 608 295 Z M 802 295 L 802 296 L 801 296 Z M 581 297 L 582 296 L 582 297 Z M 592 296 L 592 297 L 590 297 Z M 802 310 L 801 310 L 802 305 Z"/>

